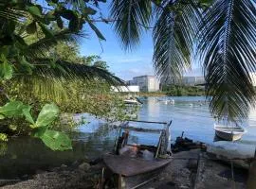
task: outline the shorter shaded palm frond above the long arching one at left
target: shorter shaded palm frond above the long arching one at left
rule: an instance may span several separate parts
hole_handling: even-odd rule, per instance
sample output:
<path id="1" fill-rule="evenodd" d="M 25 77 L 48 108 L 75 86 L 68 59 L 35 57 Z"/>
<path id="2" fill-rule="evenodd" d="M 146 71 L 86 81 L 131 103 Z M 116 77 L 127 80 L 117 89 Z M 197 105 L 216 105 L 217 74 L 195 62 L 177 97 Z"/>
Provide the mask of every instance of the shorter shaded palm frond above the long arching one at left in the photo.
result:
<path id="1" fill-rule="evenodd" d="M 45 37 L 35 43 L 27 45 L 24 49 L 28 57 L 38 58 L 45 57 L 51 47 L 54 47 L 58 42 L 78 43 L 80 38 L 86 37 L 83 33 L 74 33 L 69 29 L 57 31 L 52 37 Z"/>

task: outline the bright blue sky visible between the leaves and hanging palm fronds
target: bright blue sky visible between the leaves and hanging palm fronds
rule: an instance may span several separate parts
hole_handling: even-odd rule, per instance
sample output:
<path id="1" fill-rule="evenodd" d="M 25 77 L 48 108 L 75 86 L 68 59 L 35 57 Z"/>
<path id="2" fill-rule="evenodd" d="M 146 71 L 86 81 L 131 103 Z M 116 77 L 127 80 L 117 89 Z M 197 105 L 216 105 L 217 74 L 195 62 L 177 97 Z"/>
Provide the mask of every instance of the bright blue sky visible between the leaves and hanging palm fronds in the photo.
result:
<path id="1" fill-rule="evenodd" d="M 41 1 L 40 4 L 46 7 L 44 0 Z M 108 18 L 108 3 L 100 5 L 103 17 Z M 107 61 L 110 71 L 124 80 L 141 75 L 155 75 L 152 62 L 154 47 L 151 30 L 142 35 L 141 43 L 133 51 L 126 52 L 121 48 L 119 38 L 111 24 L 97 23 L 96 26 L 101 30 L 106 41 L 100 43 L 94 31 L 88 25 L 84 25 L 83 30 L 88 34 L 88 38 L 82 39 L 80 45 L 82 56 L 100 55 L 102 60 Z M 186 75 L 201 76 L 201 69 L 198 66 L 193 67 L 193 72 Z"/>

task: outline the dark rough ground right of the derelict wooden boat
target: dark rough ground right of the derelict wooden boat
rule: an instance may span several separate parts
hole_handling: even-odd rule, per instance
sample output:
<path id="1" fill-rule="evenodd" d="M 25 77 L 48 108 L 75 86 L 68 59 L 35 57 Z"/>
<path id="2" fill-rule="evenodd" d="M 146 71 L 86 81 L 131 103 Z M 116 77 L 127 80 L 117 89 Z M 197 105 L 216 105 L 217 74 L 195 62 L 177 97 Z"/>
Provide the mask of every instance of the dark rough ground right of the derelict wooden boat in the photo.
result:
<path id="1" fill-rule="evenodd" d="M 153 182 L 143 189 L 245 189 L 247 170 L 234 168 L 232 180 L 231 166 L 201 158 L 199 149 L 174 154 L 174 160 Z M 175 159 L 176 158 L 176 159 Z M 191 160 L 184 160 L 190 158 Z M 199 168 L 198 168 L 199 166 Z"/>

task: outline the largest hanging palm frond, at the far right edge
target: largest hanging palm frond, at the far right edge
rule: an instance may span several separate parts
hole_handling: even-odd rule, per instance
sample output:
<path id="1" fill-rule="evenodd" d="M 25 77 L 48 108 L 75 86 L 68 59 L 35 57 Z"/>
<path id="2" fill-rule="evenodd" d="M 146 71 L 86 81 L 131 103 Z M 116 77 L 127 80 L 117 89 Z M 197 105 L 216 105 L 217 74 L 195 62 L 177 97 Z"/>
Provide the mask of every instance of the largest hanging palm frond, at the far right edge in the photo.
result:
<path id="1" fill-rule="evenodd" d="M 249 77 L 256 68 L 255 32 L 255 1 L 218 0 L 204 13 L 198 53 L 205 69 L 210 112 L 219 118 L 246 118 L 255 102 Z"/>

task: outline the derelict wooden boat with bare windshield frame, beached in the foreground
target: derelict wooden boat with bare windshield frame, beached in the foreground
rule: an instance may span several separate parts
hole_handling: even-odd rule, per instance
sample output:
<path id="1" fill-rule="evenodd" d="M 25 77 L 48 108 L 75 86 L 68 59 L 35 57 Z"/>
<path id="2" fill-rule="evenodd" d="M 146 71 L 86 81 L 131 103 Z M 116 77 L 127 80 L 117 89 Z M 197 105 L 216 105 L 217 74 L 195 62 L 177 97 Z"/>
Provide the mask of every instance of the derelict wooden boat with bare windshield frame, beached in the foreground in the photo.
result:
<path id="1" fill-rule="evenodd" d="M 170 124 L 164 122 L 146 122 L 137 121 L 139 123 L 160 124 L 163 129 L 138 128 L 130 126 L 128 121 L 119 127 L 119 138 L 114 147 L 113 154 L 107 154 L 103 157 L 106 171 L 104 173 L 105 184 L 109 184 L 109 180 L 115 180 L 112 188 L 119 189 L 136 189 L 151 180 L 154 180 L 159 171 L 162 170 L 172 159 L 168 155 L 171 151 L 169 127 Z M 159 140 L 157 146 L 129 144 L 129 132 L 158 133 Z M 137 149 L 136 153 L 125 154 L 121 150 L 125 147 Z M 152 154 L 152 158 L 141 156 L 141 151 Z M 140 154 L 140 155 L 139 155 Z M 151 157 L 151 156 L 150 156 Z M 113 184 L 113 183 L 112 183 Z M 109 187 L 109 185 L 108 185 Z"/>

